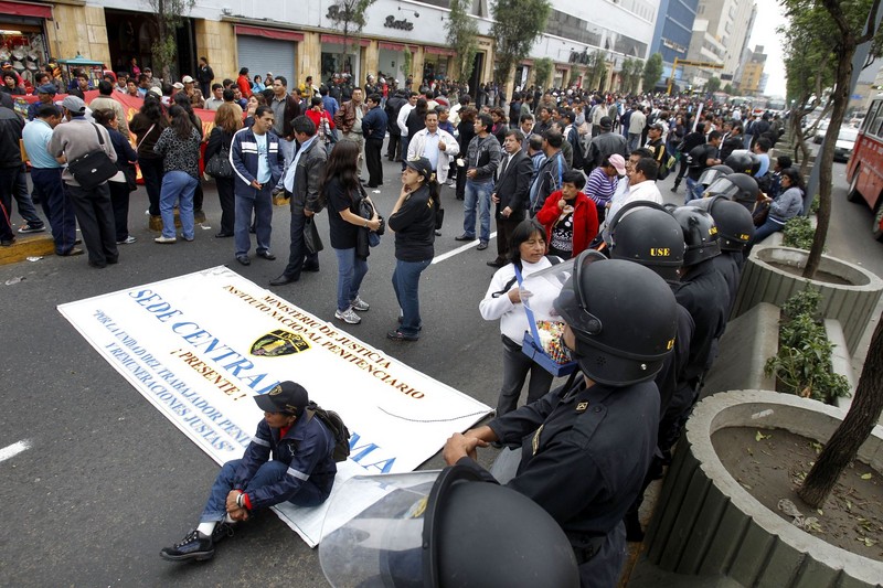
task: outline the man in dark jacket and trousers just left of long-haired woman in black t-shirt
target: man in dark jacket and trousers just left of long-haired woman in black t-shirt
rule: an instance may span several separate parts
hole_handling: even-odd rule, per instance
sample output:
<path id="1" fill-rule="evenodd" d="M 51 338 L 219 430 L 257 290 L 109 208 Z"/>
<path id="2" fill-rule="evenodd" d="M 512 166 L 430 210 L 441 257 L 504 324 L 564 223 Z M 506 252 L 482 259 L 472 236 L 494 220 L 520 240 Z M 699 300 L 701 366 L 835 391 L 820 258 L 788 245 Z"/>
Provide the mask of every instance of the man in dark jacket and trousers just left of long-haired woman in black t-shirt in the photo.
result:
<path id="1" fill-rule="evenodd" d="M 316 125 L 307 116 L 299 116 L 291 121 L 295 129 L 298 150 L 294 161 L 285 171 L 285 192 L 291 196 L 291 245 L 288 265 L 281 275 L 270 280 L 270 286 L 284 286 L 300 279 L 301 271 L 319 271 L 318 253 L 307 252 L 304 231 L 307 218 L 325 207 L 325 196 L 319 184 L 325 174 L 328 159 L 326 150 L 316 140 Z"/>

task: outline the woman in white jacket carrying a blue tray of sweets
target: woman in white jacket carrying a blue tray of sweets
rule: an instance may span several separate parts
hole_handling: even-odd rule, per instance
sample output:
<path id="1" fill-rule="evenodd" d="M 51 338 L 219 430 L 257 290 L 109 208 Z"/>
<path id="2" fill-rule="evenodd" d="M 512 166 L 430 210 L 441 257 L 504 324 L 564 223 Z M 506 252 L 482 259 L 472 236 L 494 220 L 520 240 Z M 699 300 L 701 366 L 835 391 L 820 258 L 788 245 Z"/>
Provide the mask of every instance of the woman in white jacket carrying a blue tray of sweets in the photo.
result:
<path id="1" fill-rule="evenodd" d="M 488 292 L 479 302 L 478 310 L 486 321 L 500 320 L 500 336 L 503 342 L 503 384 L 497 399 L 497 416 L 502 416 L 518 407 L 521 388 L 528 374 L 528 404 L 544 396 L 552 386 L 552 374 L 528 357 L 521 351 L 524 332 L 530 329 L 523 299 L 531 298 L 531 309 L 536 320 L 555 320 L 551 314 L 552 301 L 557 291 L 528 292 L 515 278 L 515 268 L 522 277 L 528 277 L 552 266 L 546 256 L 546 231 L 535 218 L 525 218 L 512 232 L 510 242 L 511 264 L 493 275 Z M 557 261 L 557 259 L 555 259 Z"/>

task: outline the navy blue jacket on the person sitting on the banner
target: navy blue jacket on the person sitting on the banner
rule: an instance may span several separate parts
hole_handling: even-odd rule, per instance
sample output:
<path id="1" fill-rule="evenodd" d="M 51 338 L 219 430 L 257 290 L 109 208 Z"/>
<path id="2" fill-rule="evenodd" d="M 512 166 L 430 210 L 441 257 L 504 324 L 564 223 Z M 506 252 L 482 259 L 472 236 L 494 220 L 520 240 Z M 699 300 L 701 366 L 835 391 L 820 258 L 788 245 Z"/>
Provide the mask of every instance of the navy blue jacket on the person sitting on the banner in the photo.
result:
<path id="1" fill-rule="evenodd" d="M 260 419 L 257 432 L 252 437 L 233 477 L 233 488 L 244 490 L 260 466 L 270 459 L 288 466 L 287 475 L 275 484 L 248 490 L 252 510 L 287 502 L 307 482 L 328 498 L 334 484 L 334 474 L 338 471 L 331 457 L 334 436 L 318 418 L 299 418 L 286 431 L 285 437 L 279 438 L 279 429 L 270 428 L 266 419 Z"/>

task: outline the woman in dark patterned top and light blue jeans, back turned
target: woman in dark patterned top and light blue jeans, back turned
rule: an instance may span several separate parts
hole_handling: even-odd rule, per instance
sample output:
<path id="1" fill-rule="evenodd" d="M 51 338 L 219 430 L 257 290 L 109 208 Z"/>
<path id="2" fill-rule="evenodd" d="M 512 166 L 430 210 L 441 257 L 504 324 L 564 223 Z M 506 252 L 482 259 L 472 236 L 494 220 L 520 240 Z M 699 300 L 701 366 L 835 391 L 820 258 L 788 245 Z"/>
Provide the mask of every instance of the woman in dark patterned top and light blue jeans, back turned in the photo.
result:
<path id="1" fill-rule="evenodd" d="M 162 131 L 153 150 L 164 156 L 160 214 L 162 235 L 157 243 L 174 243 L 174 205 L 178 203 L 181 234 L 184 240 L 193 240 L 193 192 L 200 177 L 200 133 L 187 110 L 175 105 L 169 108 L 170 125 Z M 179 203 L 180 201 L 180 203 Z"/>

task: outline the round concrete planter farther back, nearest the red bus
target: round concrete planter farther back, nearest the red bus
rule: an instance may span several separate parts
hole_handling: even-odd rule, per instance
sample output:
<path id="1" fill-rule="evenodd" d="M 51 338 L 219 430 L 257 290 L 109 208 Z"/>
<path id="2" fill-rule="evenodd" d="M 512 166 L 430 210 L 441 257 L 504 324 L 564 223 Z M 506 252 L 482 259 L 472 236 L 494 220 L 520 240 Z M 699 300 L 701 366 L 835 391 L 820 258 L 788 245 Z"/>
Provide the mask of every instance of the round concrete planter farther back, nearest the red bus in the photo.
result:
<path id="1" fill-rule="evenodd" d="M 883 280 L 857 265 L 822 256 L 819 271 L 836 276 L 847 285 L 807 280 L 778 266 L 806 267 L 809 252 L 790 247 L 762 247 L 752 250 L 740 282 L 731 318 L 743 314 L 758 302 L 780 307 L 807 284 L 821 291 L 819 312 L 840 321 L 850 354 L 855 353 L 864 330 L 883 291 Z M 773 265 L 776 264 L 776 265 Z"/>

